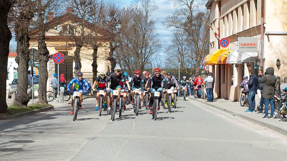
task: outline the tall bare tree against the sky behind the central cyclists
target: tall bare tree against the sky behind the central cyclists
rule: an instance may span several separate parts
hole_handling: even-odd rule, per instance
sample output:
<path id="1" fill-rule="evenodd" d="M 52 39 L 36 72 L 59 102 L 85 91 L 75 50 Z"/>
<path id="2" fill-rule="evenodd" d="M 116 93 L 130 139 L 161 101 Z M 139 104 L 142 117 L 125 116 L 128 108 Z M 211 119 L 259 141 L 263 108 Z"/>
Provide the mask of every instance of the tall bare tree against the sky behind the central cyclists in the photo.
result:
<path id="1" fill-rule="evenodd" d="M 151 0 L 139 0 L 124 12 L 117 58 L 129 73 L 137 69 L 143 71 L 152 56 L 161 49 L 155 31 L 155 20 L 151 18 L 156 9 L 157 6 L 153 5 Z"/>

